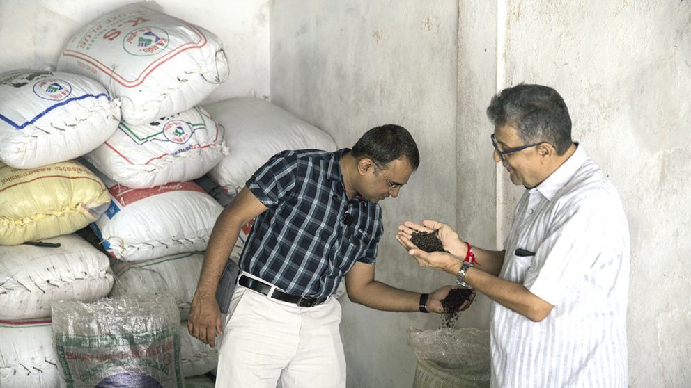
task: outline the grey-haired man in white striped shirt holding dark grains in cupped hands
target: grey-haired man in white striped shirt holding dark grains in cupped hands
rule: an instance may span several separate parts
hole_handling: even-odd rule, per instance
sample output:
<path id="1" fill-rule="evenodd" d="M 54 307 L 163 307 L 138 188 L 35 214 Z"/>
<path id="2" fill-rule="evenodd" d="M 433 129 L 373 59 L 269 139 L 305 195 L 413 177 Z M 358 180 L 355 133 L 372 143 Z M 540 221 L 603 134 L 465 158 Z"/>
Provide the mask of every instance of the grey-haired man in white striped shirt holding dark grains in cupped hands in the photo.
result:
<path id="1" fill-rule="evenodd" d="M 525 186 L 504 250 L 473 248 L 437 221 L 398 241 L 492 299 L 492 387 L 627 387 L 629 234 L 619 195 L 573 143 L 559 93 L 539 85 L 492 98 L 494 159 Z M 446 252 L 410 243 L 439 229 Z"/>

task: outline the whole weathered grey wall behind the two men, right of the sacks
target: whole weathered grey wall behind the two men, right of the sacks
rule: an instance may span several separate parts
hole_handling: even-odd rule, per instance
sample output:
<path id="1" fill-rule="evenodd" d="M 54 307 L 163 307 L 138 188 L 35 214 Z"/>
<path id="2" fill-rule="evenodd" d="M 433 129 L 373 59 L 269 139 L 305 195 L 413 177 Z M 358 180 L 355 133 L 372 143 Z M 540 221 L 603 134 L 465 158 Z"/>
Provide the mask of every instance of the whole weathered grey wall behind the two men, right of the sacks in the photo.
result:
<path id="1" fill-rule="evenodd" d="M 274 0 L 271 95 L 343 147 L 382 122 L 411 129 L 422 164 L 383 204 L 377 277 L 422 291 L 452 279 L 414 266 L 393 240 L 395 225 L 440 218 L 499 248 L 522 188 L 492 162 L 485 108 L 523 81 L 557 88 L 574 139 L 628 214 L 630 385 L 682 387 L 691 378 L 689 26 L 683 0 Z M 488 323 L 481 297 L 458 326 Z M 438 325 L 436 316 L 343 300 L 348 386 L 410 387 L 406 330 Z"/>

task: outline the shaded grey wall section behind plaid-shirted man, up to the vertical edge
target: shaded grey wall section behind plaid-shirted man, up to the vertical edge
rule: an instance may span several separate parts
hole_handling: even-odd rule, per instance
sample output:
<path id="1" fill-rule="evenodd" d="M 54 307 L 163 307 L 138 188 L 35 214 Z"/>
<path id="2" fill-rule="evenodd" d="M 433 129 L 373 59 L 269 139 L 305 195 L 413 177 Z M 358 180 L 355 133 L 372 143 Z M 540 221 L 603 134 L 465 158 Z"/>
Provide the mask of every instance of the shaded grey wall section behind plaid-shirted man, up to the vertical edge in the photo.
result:
<path id="1" fill-rule="evenodd" d="M 389 122 L 410 130 L 419 170 L 385 200 L 377 280 L 433 291 L 451 277 L 419 268 L 394 239 L 423 216 L 456 224 L 456 1 L 272 3 L 274 104 L 328 131 L 340 147 Z M 438 327 L 437 314 L 378 312 L 343 303 L 349 387 L 410 387 L 415 357 L 407 329 Z"/>

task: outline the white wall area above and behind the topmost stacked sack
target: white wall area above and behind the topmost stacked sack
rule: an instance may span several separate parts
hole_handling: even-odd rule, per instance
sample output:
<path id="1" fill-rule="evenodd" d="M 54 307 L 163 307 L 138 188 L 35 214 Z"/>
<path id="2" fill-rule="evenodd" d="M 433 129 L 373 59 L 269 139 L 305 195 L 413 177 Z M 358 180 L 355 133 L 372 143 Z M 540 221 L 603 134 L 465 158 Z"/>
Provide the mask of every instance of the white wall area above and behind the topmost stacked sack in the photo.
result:
<path id="1" fill-rule="evenodd" d="M 0 73 L 55 66 L 65 43 L 91 20 L 131 0 L 0 0 Z M 207 29 L 223 42 L 228 80 L 203 104 L 269 95 L 269 0 L 159 0 L 168 15 Z"/>

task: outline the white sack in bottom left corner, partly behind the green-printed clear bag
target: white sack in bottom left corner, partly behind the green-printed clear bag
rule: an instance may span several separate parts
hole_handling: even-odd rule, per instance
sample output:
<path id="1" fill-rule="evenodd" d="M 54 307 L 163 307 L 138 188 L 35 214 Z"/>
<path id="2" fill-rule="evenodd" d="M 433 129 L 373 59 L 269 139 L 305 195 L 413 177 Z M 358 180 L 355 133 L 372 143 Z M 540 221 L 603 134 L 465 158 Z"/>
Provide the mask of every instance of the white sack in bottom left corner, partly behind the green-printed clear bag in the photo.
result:
<path id="1" fill-rule="evenodd" d="M 0 339 L 0 387 L 60 387 L 50 318 L 0 320 Z"/>

